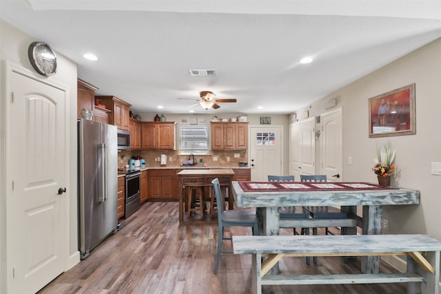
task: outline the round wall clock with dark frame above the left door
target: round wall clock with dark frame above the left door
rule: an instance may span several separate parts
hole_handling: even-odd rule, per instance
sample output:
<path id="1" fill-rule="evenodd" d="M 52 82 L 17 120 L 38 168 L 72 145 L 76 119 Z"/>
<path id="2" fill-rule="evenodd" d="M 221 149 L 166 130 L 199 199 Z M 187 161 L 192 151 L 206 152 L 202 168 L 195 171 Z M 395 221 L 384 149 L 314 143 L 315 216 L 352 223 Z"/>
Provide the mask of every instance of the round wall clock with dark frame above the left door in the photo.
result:
<path id="1" fill-rule="evenodd" d="M 43 76 L 52 76 L 57 72 L 57 56 L 50 46 L 43 42 L 33 42 L 28 48 L 32 67 Z"/>

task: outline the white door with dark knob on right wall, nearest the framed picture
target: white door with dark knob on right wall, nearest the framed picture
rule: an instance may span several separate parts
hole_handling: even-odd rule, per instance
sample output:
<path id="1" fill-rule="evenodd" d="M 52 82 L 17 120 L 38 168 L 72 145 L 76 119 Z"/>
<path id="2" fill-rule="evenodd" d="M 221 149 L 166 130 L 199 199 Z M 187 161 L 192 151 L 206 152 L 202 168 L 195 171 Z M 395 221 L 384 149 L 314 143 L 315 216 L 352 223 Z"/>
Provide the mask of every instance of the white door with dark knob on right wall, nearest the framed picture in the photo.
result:
<path id="1" fill-rule="evenodd" d="M 326 112 L 320 116 L 322 129 L 321 168 L 328 181 L 342 181 L 342 111 L 341 108 Z"/>

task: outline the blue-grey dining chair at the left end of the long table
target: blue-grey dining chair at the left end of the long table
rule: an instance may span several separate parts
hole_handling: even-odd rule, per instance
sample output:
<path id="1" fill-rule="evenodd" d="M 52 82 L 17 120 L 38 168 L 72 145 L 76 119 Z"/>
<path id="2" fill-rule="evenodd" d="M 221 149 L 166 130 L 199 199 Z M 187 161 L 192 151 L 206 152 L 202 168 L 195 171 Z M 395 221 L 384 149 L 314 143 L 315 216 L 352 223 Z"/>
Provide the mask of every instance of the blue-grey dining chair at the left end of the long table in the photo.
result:
<path id="1" fill-rule="evenodd" d="M 219 179 L 212 180 L 214 194 L 218 203 L 223 203 L 223 195 L 220 191 Z M 233 251 L 222 250 L 223 240 L 232 240 L 224 237 L 225 227 L 252 227 L 253 235 L 257 235 L 257 216 L 254 209 L 224 210 L 223 205 L 218 205 L 218 250 L 216 253 L 216 264 L 214 273 L 218 272 L 220 253 L 233 253 Z"/>

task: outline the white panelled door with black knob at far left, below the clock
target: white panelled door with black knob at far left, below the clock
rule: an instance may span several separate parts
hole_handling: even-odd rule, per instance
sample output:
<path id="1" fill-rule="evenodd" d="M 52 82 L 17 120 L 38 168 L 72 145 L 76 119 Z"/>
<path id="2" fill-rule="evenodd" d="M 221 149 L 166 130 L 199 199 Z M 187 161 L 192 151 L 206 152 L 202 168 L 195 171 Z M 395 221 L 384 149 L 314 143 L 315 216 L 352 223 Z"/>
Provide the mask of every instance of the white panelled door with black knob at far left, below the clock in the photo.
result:
<path id="1" fill-rule="evenodd" d="M 35 293 L 68 259 L 67 94 L 15 70 L 9 87 L 8 293 Z"/>

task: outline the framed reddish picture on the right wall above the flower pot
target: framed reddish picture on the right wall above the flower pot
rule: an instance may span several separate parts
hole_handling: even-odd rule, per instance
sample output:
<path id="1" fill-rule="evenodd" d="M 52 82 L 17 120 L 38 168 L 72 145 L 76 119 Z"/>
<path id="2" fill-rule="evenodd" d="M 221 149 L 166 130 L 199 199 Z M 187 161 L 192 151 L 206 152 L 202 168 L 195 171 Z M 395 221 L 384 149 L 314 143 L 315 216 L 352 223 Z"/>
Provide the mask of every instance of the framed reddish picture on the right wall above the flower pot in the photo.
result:
<path id="1" fill-rule="evenodd" d="M 414 134 L 415 83 L 369 98 L 369 138 Z"/>

